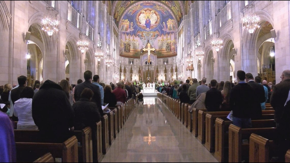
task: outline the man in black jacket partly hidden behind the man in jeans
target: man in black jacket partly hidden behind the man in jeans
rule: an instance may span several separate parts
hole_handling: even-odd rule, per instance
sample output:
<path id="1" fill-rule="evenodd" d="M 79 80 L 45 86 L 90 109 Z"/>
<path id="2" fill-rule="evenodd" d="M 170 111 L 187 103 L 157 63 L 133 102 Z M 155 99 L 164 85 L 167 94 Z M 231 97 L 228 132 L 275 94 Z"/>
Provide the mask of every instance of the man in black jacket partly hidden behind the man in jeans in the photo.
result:
<path id="1" fill-rule="evenodd" d="M 251 120 L 261 119 L 262 108 L 261 103 L 265 102 L 265 90 L 262 84 L 258 84 L 254 81 L 254 77 L 251 73 L 246 74 L 246 82 L 254 89 L 254 108 L 252 110 Z"/>

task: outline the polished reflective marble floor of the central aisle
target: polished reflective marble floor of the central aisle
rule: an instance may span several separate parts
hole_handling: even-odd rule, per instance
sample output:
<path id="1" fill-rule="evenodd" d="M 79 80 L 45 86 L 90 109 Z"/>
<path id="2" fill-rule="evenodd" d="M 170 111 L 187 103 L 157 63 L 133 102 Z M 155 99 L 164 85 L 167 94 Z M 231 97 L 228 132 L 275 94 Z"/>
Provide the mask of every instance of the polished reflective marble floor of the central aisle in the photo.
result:
<path id="1" fill-rule="evenodd" d="M 218 162 L 162 104 L 144 97 L 102 162 Z"/>

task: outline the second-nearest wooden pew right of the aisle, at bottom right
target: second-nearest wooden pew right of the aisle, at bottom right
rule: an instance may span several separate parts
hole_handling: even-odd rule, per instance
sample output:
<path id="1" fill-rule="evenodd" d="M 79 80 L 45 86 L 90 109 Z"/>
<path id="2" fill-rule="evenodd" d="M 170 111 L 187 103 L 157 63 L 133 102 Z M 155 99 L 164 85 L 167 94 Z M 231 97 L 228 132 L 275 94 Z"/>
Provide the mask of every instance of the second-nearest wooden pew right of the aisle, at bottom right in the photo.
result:
<path id="1" fill-rule="evenodd" d="M 277 157 L 278 147 L 273 138 L 274 132 L 265 133 L 263 136 L 252 133 L 249 143 L 249 162 L 270 162 L 272 157 Z"/>

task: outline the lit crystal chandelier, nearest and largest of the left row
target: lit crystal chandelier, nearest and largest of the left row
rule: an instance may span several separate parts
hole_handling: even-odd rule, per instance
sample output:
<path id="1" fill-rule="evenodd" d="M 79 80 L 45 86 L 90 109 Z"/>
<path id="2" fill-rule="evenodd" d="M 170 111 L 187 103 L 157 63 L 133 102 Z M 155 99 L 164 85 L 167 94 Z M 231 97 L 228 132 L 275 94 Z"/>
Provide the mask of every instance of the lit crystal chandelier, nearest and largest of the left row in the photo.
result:
<path id="1" fill-rule="evenodd" d="M 48 34 L 48 36 L 52 36 L 53 32 L 58 31 L 59 21 L 56 17 L 52 16 L 55 15 L 55 9 L 52 7 L 46 8 L 47 16 L 42 20 L 42 30 Z"/>

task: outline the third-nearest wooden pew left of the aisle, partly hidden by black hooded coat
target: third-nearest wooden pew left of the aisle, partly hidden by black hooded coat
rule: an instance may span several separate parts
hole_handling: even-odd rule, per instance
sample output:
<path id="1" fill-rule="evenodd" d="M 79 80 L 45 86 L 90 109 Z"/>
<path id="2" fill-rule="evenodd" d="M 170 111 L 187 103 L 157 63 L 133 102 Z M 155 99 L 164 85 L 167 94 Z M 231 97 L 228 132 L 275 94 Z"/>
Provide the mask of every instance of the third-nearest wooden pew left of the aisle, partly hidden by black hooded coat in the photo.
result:
<path id="1" fill-rule="evenodd" d="M 78 159 L 82 162 L 93 162 L 92 130 L 86 127 L 81 131 L 74 131 L 77 137 Z M 40 143 L 39 130 L 14 130 L 15 142 L 36 142 Z"/>

